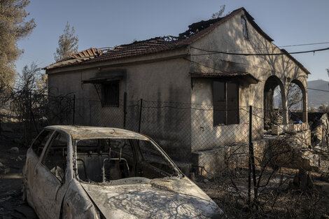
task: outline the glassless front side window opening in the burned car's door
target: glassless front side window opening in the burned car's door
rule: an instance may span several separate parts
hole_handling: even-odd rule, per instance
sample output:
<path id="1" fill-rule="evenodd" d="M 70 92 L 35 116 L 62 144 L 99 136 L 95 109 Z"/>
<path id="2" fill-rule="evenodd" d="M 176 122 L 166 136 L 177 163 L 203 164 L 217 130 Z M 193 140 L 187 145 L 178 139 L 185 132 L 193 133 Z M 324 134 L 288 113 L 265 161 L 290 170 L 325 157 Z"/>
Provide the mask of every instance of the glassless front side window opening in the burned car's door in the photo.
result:
<path id="1" fill-rule="evenodd" d="M 45 155 L 42 158 L 42 164 L 58 178 L 64 182 L 66 171 L 67 139 L 64 134 L 57 133 L 49 143 Z"/>

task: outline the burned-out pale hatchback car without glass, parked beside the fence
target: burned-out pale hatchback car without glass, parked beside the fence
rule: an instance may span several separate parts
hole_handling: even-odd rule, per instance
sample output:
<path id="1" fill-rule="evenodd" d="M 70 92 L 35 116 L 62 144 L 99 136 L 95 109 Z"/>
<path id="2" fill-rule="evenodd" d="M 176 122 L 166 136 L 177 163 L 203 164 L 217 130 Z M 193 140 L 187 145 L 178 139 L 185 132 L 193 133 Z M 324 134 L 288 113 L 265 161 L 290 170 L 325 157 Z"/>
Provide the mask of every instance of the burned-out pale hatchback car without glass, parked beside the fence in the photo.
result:
<path id="1" fill-rule="evenodd" d="M 109 127 L 45 127 L 27 150 L 23 197 L 39 218 L 223 215 L 152 139 Z"/>

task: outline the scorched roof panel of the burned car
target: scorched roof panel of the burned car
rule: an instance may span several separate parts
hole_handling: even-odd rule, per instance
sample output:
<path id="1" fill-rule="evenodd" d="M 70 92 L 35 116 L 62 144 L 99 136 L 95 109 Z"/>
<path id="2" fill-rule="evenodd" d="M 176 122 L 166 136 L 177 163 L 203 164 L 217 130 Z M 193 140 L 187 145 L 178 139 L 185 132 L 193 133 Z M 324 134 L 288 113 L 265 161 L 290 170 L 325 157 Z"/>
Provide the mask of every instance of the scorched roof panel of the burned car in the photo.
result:
<path id="1" fill-rule="evenodd" d="M 147 136 L 126 129 L 112 127 L 92 127 L 78 125 L 50 125 L 45 129 L 55 129 L 67 132 L 72 139 L 139 139 L 150 140 Z"/>

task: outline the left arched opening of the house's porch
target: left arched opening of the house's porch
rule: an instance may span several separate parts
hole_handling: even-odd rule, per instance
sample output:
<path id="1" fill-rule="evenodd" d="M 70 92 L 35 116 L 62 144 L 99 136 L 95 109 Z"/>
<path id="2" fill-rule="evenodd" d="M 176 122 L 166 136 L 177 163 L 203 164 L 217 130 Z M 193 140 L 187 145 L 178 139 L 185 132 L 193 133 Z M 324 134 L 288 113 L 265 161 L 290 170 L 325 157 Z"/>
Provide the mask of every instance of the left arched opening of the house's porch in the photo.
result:
<path id="1" fill-rule="evenodd" d="M 281 94 L 281 103 L 279 108 L 274 110 L 274 91 L 278 87 Z M 286 92 L 283 87 L 283 83 L 276 76 L 269 76 L 264 85 L 264 128 L 269 129 L 272 124 L 287 123 L 287 111 L 286 111 Z"/>

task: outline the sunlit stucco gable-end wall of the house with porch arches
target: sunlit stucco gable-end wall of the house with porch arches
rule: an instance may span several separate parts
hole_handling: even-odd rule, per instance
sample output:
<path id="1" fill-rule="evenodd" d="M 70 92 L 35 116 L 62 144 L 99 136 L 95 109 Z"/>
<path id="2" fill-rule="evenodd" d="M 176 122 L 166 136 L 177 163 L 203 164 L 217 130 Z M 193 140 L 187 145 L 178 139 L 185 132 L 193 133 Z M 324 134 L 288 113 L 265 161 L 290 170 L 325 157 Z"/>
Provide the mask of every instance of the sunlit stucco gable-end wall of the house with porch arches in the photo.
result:
<path id="1" fill-rule="evenodd" d="M 264 117 L 264 85 L 269 76 L 276 76 L 282 83 L 281 90 L 286 95 L 289 81 L 299 80 L 302 86 L 307 89 L 307 73 L 302 71 L 293 60 L 286 55 L 271 56 L 239 56 L 225 54 L 207 54 L 203 50 L 216 50 L 223 52 L 240 53 L 281 53 L 279 48 L 261 36 L 247 21 L 248 38 L 244 37 L 241 25 L 241 16 L 244 12 L 235 15 L 230 20 L 216 27 L 214 31 L 204 36 L 191 45 L 190 59 L 191 72 L 214 73 L 214 72 L 248 72 L 259 80 L 257 84 L 241 85 L 239 88 L 239 107 L 241 108 L 239 125 L 227 125 L 214 127 L 212 111 L 192 111 L 191 117 L 203 116 L 204 124 L 192 122 L 192 136 L 197 136 L 192 140 L 192 148 L 215 148 L 225 146 L 234 142 L 248 140 L 248 122 L 246 111 L 248 106 L 253 106 L 253 139 L 261 139 L 263 136 Z M 200 55 L 207 54 L 207 55 Z M 191 100 L 193 104 L 212 103 L 212 91 L 210 80 L 195 80 Z M 307 111 L 307 97 L 306 108 Z M 287 100 L 283 103 L 283 108 L 287 107 Z M 288 111 L 286 111 L 288 114 Z M 284 118 L 288 120 L 288 116 Z M 283 121 L 287 122 L 287 121 Z M 203 129 L 200 129 L 204 126 Z M 214 139 L 214 142 L 207 144 L 201 139 Z M 220 137 L 222 140 L 216 139 Z M 220 142 L 220 144 L 218 144 Z M 201 145 L 201 146 L 200 146 Z"/>

